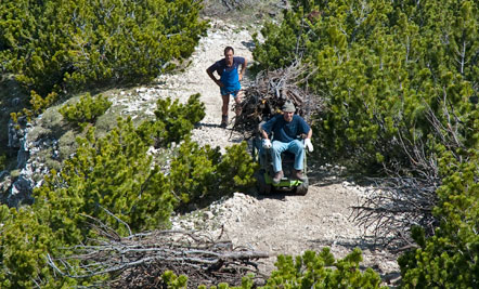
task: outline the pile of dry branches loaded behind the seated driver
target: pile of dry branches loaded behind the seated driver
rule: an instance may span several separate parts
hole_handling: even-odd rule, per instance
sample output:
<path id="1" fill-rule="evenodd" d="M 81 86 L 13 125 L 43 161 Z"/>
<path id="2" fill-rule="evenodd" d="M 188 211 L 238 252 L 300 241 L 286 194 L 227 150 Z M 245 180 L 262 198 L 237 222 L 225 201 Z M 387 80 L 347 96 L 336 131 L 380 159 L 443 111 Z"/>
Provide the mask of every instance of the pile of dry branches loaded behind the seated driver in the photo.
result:
<path id="1" fill-rule="evenodd" d="M 284 69 L 260 73 L 255 83 L 245 89 L 245 97 L 241 103 L 242 114 L 235 118 L 233 130 L 243 133 L 246 140 L 255 136 L 261 121 L 280 113 L 288 100 L 295 104 L 296 114 L 310 122 L 322 102 L 300 86 L 315 71 L 297 61 Z"/>

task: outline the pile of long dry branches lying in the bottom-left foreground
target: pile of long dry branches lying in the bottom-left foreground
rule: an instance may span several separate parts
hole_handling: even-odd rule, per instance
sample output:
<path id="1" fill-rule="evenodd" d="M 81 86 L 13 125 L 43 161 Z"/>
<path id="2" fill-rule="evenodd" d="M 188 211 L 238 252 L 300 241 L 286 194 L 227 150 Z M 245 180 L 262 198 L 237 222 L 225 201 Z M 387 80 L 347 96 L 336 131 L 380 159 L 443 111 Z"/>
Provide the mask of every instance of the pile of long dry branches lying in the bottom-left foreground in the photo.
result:
<path id="1" fill-rule="evenodd" d="M 254 262 L 268 253 L 233 248 L 231 241 L 220 240 L 199 232 L 156 231 L 120 237 L 115 231 L 96 226 L 99 238 L 92 245 L 66 248 L 73 251 L 61 258 L 48 257 L 49 265 L 63 276 L 90 278 L 109 274 L 111 288 L 166 288 L 161 275 L 172 271 L 189 277 L 189 288 L 199 285 L 228 283 L 239 286 L 242 276 L 255 273 L 263 283 Z M 72 264 L 79 263 L 82 274 Z"/>

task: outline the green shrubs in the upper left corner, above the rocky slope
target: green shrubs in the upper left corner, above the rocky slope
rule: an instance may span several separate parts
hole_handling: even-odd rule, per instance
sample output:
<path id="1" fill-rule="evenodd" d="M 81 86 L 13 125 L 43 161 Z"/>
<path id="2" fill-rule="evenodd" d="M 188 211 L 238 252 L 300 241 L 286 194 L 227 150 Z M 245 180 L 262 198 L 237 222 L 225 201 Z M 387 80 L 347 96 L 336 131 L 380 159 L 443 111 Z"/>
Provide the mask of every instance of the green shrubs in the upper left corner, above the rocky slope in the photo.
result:
<path id="1" fill-rule="evenodd" d="M 0 60 L 28 88 L 138 83 L 190 56 L 207 24 L 198 1 L 0 3 Z"/>

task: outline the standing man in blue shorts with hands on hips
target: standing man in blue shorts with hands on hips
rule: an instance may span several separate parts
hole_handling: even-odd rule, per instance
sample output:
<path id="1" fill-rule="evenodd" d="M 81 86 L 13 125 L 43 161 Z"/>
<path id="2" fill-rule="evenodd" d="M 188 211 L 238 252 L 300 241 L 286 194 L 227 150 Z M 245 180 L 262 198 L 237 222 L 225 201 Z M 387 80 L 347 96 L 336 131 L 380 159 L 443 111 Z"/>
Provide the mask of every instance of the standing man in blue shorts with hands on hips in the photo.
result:
<path id="1" fill-rule="evenodd" d="M 241 71 L 237 69 L 241 65 Z M 218 79 L 213 73 L 220 76 Z M 242 86 L 239 81 L 243 79 L 243 75 L 246 71 L 246 58 L 234 56 L 234 49 L 232 47 L 226 47 L 224 49 L 224 58 L 212 64 L 206 73 L 215 81 L 215 83 L 220 87 L 221 97 L 223 98 L 222 117 L 221 117 L 221 128 L 228 126 L 228 105 L 230 104 L 230 95 L 233 96 L 236 103 L 236 116 L 241 114 L 239 104 L 242 102 L 241 89 Z"/>

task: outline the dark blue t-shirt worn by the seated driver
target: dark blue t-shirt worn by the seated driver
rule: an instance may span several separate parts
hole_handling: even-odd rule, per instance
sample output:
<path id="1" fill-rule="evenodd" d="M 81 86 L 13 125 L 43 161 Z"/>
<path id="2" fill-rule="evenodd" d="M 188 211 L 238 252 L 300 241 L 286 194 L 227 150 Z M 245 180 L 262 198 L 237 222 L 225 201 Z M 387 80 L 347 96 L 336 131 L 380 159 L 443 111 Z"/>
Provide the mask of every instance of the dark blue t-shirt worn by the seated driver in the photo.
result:
<path id="1" fill-rule="evenodd" d="M 267 123 L 262 124 L 261 128 L 268 134 L 273 132 L 274 140 L 283 143 L 289 143 L 296 140 L 296 136 L 299 134 L 307 134 L 311 129 L 305 119 L 298 115 L 293 115 L 293 120 L 289 122 L 284 119 L 283 115 L 274 116 Z"/>

